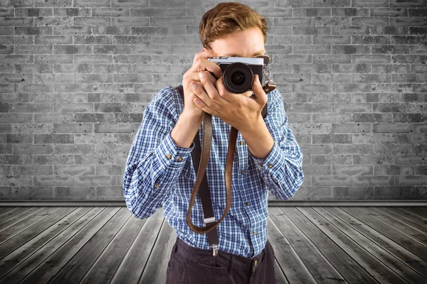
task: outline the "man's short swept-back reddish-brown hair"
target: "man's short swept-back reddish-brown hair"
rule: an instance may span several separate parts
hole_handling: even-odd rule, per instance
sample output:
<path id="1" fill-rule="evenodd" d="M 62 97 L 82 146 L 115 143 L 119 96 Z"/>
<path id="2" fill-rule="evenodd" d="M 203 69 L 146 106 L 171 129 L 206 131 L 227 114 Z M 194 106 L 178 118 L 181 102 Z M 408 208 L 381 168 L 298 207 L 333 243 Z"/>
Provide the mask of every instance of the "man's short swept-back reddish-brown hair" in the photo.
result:
<path id="1" fill-rule="evenodd" d="M 267 21 L 263 16 L 246 5 L 225 2 L 204 14 L 199 35 L 204 48 L 211 49 L 209 44 L 218 38 L 247 28 L 259 28 L 264 35 L 264 43 L 267 42 Z"/>

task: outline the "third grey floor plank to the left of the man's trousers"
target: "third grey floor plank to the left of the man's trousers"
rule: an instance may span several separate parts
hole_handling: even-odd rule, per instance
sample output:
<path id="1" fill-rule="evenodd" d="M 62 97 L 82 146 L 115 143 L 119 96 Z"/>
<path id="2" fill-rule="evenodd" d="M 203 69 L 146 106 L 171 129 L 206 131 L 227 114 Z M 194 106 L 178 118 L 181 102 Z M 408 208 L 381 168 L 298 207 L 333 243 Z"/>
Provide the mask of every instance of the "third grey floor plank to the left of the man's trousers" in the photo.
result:
<path id="1" fill-rule="evenodd" d="M 126 224 L 122 226 L 122 229 L 114 236 L 107 248 L 102 251 L 101 256 L 90 268 L 90 271 L 84 275 L 85 277 L 80 283 L 110 283 L 120 262 L 125 257 L 127 250 L 132 245 L 142 225 L 144 225 L 144 220 L 131 217 L 132 215 L 129 213 L 129 209 L 126 207 L 123 207 L 123 209 L 127 217 Z"/>

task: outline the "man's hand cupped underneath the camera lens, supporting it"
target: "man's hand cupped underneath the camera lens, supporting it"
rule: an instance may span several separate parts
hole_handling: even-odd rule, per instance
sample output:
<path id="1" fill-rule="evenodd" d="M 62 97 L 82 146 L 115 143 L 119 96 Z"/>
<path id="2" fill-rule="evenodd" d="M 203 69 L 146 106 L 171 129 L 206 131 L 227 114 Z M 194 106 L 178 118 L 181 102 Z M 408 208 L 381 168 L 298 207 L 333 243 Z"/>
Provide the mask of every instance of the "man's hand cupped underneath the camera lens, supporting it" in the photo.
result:
<path id="1" fill-rule="evenodd" d="M 214 84 L 209 80 L 207 72 L 199 72 L 201 86 L 194 89 L 194 94 L 199 98 L 195 102 L 199 109 L 217 116 L 226 124 L 233 126 L 238 131 L 250 131 L 262 120 L 261 111 L 268 101 L 258 75 L 255 75 L 251 89 L 255 94 L 249 97 L 244 94 L 228 92 L 223 84 L 222 77 Z M 250 95 L 251 92 L 248 92 Z"/>

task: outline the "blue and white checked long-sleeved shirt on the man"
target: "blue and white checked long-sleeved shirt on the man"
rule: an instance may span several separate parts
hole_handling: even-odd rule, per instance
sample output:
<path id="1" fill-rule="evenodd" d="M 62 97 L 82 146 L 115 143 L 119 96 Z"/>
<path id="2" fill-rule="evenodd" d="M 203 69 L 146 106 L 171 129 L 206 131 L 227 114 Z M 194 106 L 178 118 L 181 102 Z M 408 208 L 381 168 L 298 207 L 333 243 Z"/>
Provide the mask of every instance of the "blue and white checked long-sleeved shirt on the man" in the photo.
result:
<path id="1" fill-rule="evenodd" d="M 150 217 L 163 207 L 164 217 L 179 239 L 199 249 L 210 249 L 207 234 L 197 234 L 186 224 L 191 191 L 196 181 L 190 148 L 177 147 L 171 131 L 184 109 L 178 90 L 165 87 L 144 111 L 142 124 L 130 148 L 123 178 L 127 208 L 135 217 Z M 274 146 L 265 159 L 255 158 L 238 132 L 233 160 L 231 209 L 216 227 L 218 249 L 247 258 L 263 251 L 267 242 L 268 190 L 280 200 L 295 194 L 304 180 L 302 152 L 288 126 L 283 98 L 275 89 L 268 94 L 265 124 Z M 228 124 L 212 116 L 212 145 L 206 175 L 216 221 L 226 208 L 225 165 Z M 202 126 L 199 128 L 201 143 Z M 199 194 L 191 210 L 195 226 L 204 226 Z"/>

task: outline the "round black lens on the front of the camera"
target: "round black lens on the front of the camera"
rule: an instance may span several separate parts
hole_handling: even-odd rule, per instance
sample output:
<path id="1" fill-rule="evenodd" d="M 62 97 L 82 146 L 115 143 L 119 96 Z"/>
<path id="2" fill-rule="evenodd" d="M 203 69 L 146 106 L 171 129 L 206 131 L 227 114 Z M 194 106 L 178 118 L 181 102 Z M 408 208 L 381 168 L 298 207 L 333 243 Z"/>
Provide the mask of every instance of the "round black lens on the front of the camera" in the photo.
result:
<path id="1" fill-rule="evenodd" d="M 228 92 L 242 94 L 252 87 L 253 72 L 243 62 L 233 62 L 223 71 L 223 82 Z"/>

